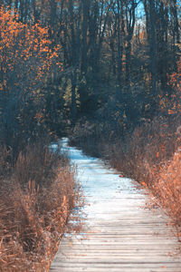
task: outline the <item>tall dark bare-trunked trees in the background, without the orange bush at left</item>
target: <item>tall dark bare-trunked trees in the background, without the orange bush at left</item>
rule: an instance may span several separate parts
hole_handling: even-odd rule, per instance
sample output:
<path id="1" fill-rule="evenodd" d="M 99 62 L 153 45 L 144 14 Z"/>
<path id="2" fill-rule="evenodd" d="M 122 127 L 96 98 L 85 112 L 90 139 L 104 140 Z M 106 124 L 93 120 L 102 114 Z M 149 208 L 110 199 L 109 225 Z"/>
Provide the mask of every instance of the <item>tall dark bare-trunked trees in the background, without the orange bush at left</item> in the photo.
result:
<path id="1" fill-rule="evenodd" d="M 168 75 L 176 71 L 178 60 L 178 0 L 2 0 L 0 3 L 6 10 L 14 10 L 16 24 L 26 25 L 30 33 L 37 25 L 46 29 L 46 39 L 50 41 L 48 52 L 61 47 L 57 63 L 62 63 L 63 73 L 55 69 L 51 74 L 45 68 L 51 76 L 49 80 L 45 76 L 46 83 L 41 81 L 41 90 L 46 92 L 43 96 L 49 116 L 46 121 L 53 130 L 60 131 L 60 126 L 66 126 L 63 119 L 71 120 L 72 124 L 82 116 L 96 116 L 104 121 L 110 118 L 114 125 L 125 129 L 136 125 L 141 118 L 152 118 L 159 111 L 160 100 L 175 92 L 167 83 Z M 36 60 L 31 56 L 33 65 L 39 67 L 43 60 L 50 59 L 48 52 L 33 52 L 37 53 Z M 14 71 L 19 73 L 17 66 Z M 34 77 L 34 89 L 36 71 L 29 73 L 29 78 Z M 22 90 L 29 83 L 32 81 L 24 81 Z"/>

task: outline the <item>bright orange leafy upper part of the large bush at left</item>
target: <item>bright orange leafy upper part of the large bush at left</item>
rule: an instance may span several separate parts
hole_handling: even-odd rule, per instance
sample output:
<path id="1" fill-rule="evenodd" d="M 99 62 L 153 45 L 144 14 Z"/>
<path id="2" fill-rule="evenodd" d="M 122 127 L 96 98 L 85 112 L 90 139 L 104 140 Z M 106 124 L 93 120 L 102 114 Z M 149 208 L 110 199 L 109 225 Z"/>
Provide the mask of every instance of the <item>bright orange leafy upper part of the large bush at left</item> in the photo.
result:
<path id="1" fill-rule="evenodd" d="M 51 69 L 62 69 L 60 47 L 51 49 L 48 28 L 18 22 L 12 10 L 0 8 L 0 90 L 35 94 Z M 16 93 L 17 95 L 17 93 Z"/>

